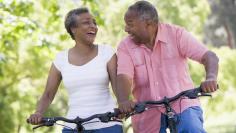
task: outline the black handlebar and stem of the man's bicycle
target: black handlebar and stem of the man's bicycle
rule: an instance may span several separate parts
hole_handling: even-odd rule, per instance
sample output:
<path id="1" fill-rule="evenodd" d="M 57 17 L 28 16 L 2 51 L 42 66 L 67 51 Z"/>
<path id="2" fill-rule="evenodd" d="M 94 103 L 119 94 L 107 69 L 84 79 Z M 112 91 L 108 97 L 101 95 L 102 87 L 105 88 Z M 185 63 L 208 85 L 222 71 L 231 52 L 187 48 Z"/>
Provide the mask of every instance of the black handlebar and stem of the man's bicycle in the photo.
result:
<path id="1" fill-rule="evenodd" d="M 144 101 L 144 102 L 140 102 L 137 103 L 134 107 L 134 110 L 131 113 L 128 113 L 126 115 L 126 119 L 128 117 L 130 117 L 131 115 L 135 115 L 135 114 L 140 114 L 146 110 L 149 110 L 151 108 L 155 108 L 155 107 L 159 107 L 160 105 L 164 105 L 166 111 L 165 114 L 167 115 L 167 128 L 169 128 L 170 133 L 178 133 L 177 130 L 177 121 L 175 119 L 175 111 L 174 109 L 172 109 L 172 107 L 170 106 L 170 103 L 173 101 L 176 101 L 179 98 L 183 98 L 183 97 L 187 97 L 190 99 L 195 99 L 197 97 L 200 96 L 211 96 L 210 93 L 204 93 L 201 90 L 201 87 L 197 87 L 191 90 L 186 90 L 186 91 L 182 91 L 179 94 L 177 94 L 174 97 L 164 97 L 162 100 L 159 101 Z"/>

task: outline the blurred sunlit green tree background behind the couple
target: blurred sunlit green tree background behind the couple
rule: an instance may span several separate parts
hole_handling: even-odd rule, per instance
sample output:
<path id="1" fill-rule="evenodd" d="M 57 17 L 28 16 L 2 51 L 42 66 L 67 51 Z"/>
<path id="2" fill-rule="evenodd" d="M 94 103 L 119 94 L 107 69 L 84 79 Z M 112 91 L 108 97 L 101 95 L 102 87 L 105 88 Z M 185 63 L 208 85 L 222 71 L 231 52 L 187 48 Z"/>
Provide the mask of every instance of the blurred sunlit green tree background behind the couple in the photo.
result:
<path id="1" fill-rule="evenodd" d="M 0 0 L 0 133 L 31 133 L 26 118 L 34 112 L 44 90 L 51 61 L 72 47 L 64 28 L 66 13 L 89 7 L 96 16 L 98 44 L 116 49 L 124 32 L 123 15 L 134 0 Z M 205 129 L 209 133 L 236 133 L 236 0 L 150 0 L 161 22 L 185 27 L 220 58 L 220 90 L 201 98 Z M 204 80 L 204 68 L 190 62 L 195 85 Z M 67 94 L 63 84 L 46 116 L 64 116 Z M 96 112 L 95 112 L 96 113 Z M 132 133 L 130 120 L 124 130 Z M 62 127 L 35 133 L 60 132 Z"/>

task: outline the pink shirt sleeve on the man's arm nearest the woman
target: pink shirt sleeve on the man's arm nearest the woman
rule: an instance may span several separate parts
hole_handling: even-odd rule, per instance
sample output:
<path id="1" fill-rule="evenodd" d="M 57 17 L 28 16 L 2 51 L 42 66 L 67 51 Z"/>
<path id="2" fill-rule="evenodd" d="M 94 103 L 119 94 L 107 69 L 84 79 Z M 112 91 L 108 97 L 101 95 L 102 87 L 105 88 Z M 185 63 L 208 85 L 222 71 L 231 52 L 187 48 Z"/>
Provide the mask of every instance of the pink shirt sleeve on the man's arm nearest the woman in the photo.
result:
<path id="1" fill-rule="evenodd" d="M 117 48 L 117 58 L 117 75 L 125 74 L 133 78 L 134 65 L 124 41 L 122 41 Z"/>

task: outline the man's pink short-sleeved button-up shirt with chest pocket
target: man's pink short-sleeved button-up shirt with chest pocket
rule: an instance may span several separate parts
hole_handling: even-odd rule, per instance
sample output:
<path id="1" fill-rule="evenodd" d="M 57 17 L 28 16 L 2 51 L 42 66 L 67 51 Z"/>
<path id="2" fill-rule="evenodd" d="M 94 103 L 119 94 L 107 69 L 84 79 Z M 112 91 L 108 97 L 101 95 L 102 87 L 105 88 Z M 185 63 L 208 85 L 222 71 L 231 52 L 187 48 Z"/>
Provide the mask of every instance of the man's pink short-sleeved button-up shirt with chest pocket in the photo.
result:
<path id="1" fill-rule="evenodd" d="M 200 62 L 207 49 L 181 27 L 158 25 L 153 50 L 136 45 L 128 36 L 118 46 L 118 74 L 134 80 L 132 93 L 137 102 L 161 100 L 194 88 L 188 72 L 187 59 Z M 172 103 L 180 113 L 190 106 L 200 106 L 199 100 L 182 99 Z M 132 117 L 135 133 L 156 133 L 160 130 L 163 107 L 150 109 Z"/>

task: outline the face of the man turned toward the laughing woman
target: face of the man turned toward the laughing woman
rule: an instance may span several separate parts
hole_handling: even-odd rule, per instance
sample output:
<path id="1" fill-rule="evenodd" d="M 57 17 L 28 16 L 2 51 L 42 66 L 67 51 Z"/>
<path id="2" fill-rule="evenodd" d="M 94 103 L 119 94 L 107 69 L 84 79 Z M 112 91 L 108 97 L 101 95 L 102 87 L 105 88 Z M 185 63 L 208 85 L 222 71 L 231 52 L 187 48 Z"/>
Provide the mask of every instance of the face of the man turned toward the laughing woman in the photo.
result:
<path id="1" fill-rule="evenodd" d="M 124 17 L 125 32 L 127 32 L 131 39 L 137 44 L 147 42 L 147 24 L 145 20 L 141 20 L 135 11 L 128 10 Z"/>

